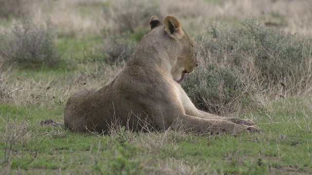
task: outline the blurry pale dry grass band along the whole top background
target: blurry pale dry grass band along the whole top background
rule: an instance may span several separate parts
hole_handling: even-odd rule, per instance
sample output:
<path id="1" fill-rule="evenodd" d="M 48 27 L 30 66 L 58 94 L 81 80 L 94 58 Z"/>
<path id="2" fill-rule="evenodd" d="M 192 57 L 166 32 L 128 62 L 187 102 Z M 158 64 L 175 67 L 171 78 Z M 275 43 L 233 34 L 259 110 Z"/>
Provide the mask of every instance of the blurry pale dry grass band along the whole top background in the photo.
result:
<path id="1" fill-rule="evenodd" d="M 116 25 L 111 19 L 103 18 L 103 7 L 110 5 L 110 0 L 32 1 L 27 8 L 32 12 L 33 21 L 44 24 L 50 18 L 51 22 L 58 26 L 59 33 L 64 36 L 100 35 L 103 29 L 113 29 Z M 312 3 L 309 0 L 155 0 L 154 2 L 159 6 L 160 18 L 168 14 L 175 15 L 188 33 L 201 32 L 203 24 L 215 21 L 236 22 L 253 14 L 264 23 L 286 32 L 312 35 L 310 30 Z M 122 4 L 123 0 L 114 1 L 114 4 L 118 3 Z M 136 3 L 146 2 L 137 0 Z M 148 26 L 148 21 L 145 23 Z M 1 26 L 0 31 L 3 29 Z"/>

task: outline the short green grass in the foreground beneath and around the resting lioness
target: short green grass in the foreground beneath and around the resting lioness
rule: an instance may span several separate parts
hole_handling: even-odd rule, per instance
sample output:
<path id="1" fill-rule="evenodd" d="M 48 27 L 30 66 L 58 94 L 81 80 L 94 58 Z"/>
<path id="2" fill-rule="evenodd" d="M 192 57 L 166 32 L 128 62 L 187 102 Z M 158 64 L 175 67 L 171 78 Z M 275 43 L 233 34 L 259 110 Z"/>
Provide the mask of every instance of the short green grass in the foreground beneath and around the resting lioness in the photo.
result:
<path id="1" fill-rule="evenodd" d="M 72 133 L 39 125 L 47 118 L 62 121 L 60 107 L 1 105 L 1 169 L 13 174 L 311 174 L 312 112 L 307 104 L 299 98 L 278 99 L 272 110 L 245 116 L 254 118 L 262 134 L 237 136 L 123 128 L 104 136 Z M 6 144 L 12 145 L 8 161 Z"/>

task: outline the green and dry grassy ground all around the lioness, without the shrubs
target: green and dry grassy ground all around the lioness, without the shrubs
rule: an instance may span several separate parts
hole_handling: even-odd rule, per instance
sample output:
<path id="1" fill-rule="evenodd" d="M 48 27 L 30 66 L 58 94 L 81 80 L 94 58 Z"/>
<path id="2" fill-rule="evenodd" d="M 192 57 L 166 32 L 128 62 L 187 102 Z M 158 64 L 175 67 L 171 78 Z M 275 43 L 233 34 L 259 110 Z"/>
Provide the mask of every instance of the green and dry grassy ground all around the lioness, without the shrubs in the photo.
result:
<path id="1" fill-rule="evenodd" d="M 156 2 L 160 18 L 176 15 L 191 36 L 204 33 L 210 22 L 236 23 L 250 13 L 276 30 L 312 35 L 309 0 Z M 0 96 L 2 174 L 312 174 L 309 95 L 263 95 L 259 107 L 237 116 L 253 120 L 262 134 L 131 133 L 120 128 L 98 135 L 39 125 L 45 119 L 62 122 L 64 105 L 72 94 L 105 86 L 122 70 L 123 62 L 108 65 L 100 59 L 103 42 L 118 33 L 114 21 L 102 18 L 103 9 L 112 6 L 113 1 L 105 0 L 26 4 L 34 13 L 28 18 L 38 24 L 50 18 L 56 26 L 63 61 L 56 68 L 25 69 L 17 64 L 0 68 L 1 87 L 7 87 L 6 96 Z M 0 34 L 19 20 L 14 15 L 1 18 Z M 143 24 L 130 35 L 146 31 L 147 21 Z"/>

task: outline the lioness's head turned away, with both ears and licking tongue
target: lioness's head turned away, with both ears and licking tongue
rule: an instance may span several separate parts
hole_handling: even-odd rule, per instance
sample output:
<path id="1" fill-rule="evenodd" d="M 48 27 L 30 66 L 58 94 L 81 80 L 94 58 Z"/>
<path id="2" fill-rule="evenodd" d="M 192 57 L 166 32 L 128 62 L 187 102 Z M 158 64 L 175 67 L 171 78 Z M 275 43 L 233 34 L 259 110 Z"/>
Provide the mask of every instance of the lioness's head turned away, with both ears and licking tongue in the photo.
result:
<path id="1" fill-rule="evenodd" d="M 191 73 L 197 66 L 197 60 L 194 55 L 194 43 L 192 39 L 184 32 L 180 22 L 171 15 L 163 19 L 163 24 L 156 16 L 150 19 L 150 29 L 162 26 L 169 37 L 176 41 L 175 46 L 179 52 L 176 60 L 172 61 L 171 74 L 177 83 L 182 83 L 185 73 Z"/>

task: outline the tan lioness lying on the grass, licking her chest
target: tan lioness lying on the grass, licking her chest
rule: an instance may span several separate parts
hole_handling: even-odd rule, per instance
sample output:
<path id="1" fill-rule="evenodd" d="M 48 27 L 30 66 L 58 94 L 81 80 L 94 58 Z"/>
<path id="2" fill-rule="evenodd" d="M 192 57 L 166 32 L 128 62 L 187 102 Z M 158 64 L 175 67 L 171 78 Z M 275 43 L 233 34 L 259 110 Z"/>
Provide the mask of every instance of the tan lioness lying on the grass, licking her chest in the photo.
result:
<path id="1" fill-rule="evenodd" d="M 219 117 L 193 105 L 180 84 L 196 66 L 192 40 L 180 22 L 166 16 L 161 23 L 153 16 L 150 31 L 111 84 L 69 98 L 64 125 L 72 131 L 100 133 L 109 131 L 112 123 L 134 131 L 261 132 L 249 120 Z"/>

